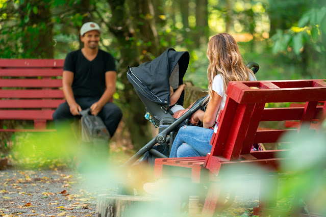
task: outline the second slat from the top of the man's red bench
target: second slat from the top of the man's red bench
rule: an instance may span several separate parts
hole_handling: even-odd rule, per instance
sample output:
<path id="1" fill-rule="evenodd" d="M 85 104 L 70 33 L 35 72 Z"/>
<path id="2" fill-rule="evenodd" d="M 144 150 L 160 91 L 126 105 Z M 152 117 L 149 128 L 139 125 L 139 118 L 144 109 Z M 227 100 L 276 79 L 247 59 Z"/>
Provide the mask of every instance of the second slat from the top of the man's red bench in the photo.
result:
<path id="1" fill-rule="evenodd" d="M 52 77 L 62 76 L 62 68 L 1 69 L 0 76 L 8 77 Z"/>

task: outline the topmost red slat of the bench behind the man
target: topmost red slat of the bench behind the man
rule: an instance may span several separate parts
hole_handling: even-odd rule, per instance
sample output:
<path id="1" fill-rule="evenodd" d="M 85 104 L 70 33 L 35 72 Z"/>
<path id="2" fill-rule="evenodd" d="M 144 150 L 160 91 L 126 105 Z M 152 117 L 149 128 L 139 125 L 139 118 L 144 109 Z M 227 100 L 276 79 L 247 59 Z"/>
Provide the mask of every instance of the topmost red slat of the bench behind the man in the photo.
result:
<path id="1" fill-rule="evenodd" d="M 0 67 L 6 68 L 63 68 L 63 59 L 0 59 Z"/>

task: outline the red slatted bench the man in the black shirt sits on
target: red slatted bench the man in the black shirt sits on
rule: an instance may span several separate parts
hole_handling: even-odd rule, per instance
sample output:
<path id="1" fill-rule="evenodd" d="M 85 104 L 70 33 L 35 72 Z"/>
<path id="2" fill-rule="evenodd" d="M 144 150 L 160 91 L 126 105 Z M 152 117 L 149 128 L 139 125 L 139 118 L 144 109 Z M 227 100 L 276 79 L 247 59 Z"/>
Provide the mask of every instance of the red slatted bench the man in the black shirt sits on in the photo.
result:
<path id="1" fill-rule="evenodd" d="M 0 59 L 0 132 L 49 131 L 55 108 L 64 102 L 64 60 Z M 3 129 L 4 120 L 32 120 L 34 129 Z"/>

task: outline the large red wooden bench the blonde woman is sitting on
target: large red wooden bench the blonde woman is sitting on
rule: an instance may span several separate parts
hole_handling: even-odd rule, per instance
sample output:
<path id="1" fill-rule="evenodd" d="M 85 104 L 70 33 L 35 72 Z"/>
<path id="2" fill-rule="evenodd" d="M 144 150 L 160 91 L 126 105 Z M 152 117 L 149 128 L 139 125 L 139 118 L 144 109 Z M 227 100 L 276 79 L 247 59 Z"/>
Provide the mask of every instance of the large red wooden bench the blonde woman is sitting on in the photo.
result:
<path id="1" fill-rule="evenodd" d="M 274 216 L 277 210 L 278 182 L 271 177 L 275 177 L 278 172 L 286 172 L 280 167 L 285 159 L 278 154 L 287 150 L 252 152 L 250 149 L 253 143 L 279 142 L 286 132 L 316 131 L 309 129 L 309 126 L 313 120 L 318 120 L 318 129 L 325 117 L 326 104 L 318 105 L 318 101 L 326 99 L 325 81 L 326 79 L 231 82 L 224 111 L 219 116 L 218 131 L 211 139 L 211 153 L 206 157 L 158 158 L 155 160 L 155 177 L 184 177 L 193 183 L 208 184 L 209 191 L 202 215 L 212 216 L 219 213 L 224 206 L 225 197 L 220 180 L 225 172 L 240 165 L 259 166 L 266 169 L 268 175 L 261 181 L 259 207 L 254 208 L 254 214 Z M 269 102 L 304 102 L 305 106 L 265 108 L 265 103 Z M 323 118 L 320 116 L 322 114 Z M 299 125 L 297 129 L 258 129 L 261 122 L 284 120 L 299 120 Z M 255 171 L 261 173 L 260 170 L 253 170 L 250 173 L 244 171 L 242 175 L 254 174 Z M 266 192 L 269 193 L 268 201 L 262 197 Z M 277 215 L 279 214 L 298 215 L 289 211 L 281 211 Z"/>

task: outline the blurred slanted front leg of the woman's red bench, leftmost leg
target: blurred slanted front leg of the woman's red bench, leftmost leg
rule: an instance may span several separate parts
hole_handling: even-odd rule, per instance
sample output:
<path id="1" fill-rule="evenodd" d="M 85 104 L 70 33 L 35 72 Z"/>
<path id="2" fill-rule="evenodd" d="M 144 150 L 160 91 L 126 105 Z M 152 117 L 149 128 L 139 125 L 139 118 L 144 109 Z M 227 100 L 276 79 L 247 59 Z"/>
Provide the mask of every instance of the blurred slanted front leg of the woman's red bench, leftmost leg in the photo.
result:
<path id="1" fill-rule="evenodd" d="M 221 183 L 211 183 L 208 188 L 202 216 L 213 216 L 214 214 L 221 213 L 226 198 L 225 196 L 225 194 L 222 194 Z"/>

